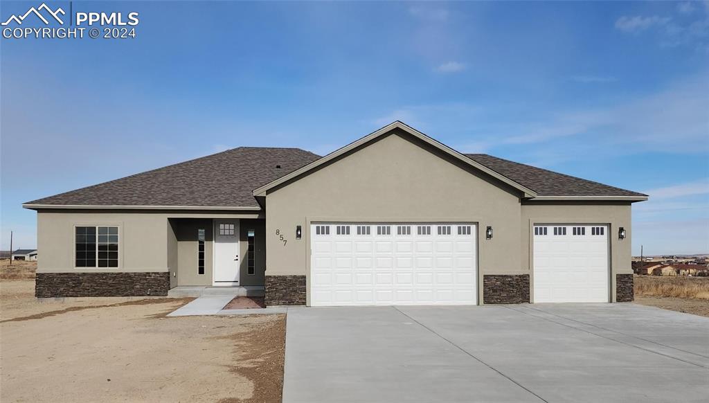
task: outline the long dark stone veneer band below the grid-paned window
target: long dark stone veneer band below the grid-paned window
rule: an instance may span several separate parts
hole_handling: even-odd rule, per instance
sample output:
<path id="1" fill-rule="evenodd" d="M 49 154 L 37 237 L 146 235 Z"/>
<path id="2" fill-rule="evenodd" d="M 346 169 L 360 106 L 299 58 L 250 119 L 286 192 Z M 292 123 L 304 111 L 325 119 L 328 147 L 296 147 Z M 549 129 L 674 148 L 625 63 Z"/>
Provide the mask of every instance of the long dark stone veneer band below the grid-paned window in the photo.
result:
<path id="1" fill-rule="evenodd" d="M 37 273 L 35 297 L 165 296 L 169 272 Z"/>

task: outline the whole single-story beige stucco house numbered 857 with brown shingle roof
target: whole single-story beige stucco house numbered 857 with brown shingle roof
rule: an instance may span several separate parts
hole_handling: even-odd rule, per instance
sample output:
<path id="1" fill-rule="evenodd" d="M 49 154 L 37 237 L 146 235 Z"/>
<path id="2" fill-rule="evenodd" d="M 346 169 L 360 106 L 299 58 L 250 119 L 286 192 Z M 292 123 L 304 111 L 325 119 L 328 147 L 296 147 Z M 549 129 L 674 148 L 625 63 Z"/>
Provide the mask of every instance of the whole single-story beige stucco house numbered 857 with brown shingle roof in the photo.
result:
<path id="1" fill-rule="evenodd" d="M 646 199 L 396 121 L 324 157 L 235 148 L 23 206 L 37 297 L 248 286 L 334 306 L 630 301 Z"/>

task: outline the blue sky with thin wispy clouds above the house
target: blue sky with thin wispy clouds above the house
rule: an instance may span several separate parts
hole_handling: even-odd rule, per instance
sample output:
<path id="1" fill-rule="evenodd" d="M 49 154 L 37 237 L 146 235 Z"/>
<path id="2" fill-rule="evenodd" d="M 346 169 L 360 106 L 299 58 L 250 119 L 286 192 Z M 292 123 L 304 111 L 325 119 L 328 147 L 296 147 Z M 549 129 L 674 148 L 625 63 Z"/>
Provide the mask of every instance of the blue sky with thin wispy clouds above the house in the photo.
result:
<path id="1" fill-rule="evenodd" d="M 324 155 L 401 120 L 649 194 L 635 255 L 709 253 L 709 2 L 72 6 L 138 12 L 137 36 L 0 39 L 3 250 L 36 245 L 26 201 L 242 145 Z"/>

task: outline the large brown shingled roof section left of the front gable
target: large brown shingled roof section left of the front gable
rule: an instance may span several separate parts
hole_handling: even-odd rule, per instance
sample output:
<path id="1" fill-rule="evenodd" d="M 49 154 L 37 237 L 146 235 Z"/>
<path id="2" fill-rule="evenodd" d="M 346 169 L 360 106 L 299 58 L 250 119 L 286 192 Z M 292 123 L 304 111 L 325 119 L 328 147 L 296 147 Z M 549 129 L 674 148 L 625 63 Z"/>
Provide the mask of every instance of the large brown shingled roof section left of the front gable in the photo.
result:
<path id="1" fill-rule="evenodd" d="M 240 147 L 23 204 L 41 208 L 260 210 L 251 191 L 320 156 Z"/>

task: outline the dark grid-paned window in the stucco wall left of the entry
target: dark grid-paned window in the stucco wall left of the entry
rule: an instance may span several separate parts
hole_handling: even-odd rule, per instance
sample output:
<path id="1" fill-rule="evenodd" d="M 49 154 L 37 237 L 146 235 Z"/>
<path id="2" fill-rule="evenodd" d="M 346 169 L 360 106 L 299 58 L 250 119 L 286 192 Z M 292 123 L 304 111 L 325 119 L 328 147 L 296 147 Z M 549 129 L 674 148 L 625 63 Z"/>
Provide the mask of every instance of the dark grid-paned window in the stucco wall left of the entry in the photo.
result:
<path id="1" fill-rule="evenodd" d="M 117 226 L 77 226 L 76 267 L 118 267 Z"/>

